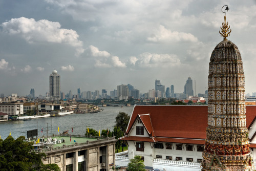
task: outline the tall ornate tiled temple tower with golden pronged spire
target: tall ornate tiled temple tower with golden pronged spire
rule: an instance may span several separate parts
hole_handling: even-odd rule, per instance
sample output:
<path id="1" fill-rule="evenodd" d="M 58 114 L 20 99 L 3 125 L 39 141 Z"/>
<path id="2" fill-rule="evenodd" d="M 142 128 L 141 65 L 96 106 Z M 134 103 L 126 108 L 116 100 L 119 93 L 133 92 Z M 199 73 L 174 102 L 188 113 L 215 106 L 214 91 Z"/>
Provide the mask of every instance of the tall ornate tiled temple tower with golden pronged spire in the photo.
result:
<path id="1" fill-rule="evenodd" d="M 224 39 L 212 51 L 209 63 L 202 170 L 254 170 L 246 127 L 243 62 L 238 47 L 226 38 L 229 29 L 225 13 L 220 31 Z"/>

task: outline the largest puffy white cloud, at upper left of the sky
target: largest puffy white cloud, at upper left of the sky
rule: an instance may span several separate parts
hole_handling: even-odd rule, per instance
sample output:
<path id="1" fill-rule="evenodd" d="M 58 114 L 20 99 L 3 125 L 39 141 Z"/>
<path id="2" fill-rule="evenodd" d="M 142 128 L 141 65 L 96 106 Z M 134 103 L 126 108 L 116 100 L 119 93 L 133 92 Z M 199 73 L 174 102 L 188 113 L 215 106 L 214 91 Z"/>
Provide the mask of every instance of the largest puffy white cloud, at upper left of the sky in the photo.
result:
<path id="1" fill-rule="evenodd" d="M 9 35 L 17 35 L 24 38 L 30 44 L 33 42 L 54 42 L 67 44 L 81 49 L 82 41 L 79 35 L 72 29 L 61 29 L 58 22 L 47 19 L 36 21 L 34 18 L 12 18 L 1 25 L 3 31 Z M 79 50 L 81 52 L 81 50 Z"/>

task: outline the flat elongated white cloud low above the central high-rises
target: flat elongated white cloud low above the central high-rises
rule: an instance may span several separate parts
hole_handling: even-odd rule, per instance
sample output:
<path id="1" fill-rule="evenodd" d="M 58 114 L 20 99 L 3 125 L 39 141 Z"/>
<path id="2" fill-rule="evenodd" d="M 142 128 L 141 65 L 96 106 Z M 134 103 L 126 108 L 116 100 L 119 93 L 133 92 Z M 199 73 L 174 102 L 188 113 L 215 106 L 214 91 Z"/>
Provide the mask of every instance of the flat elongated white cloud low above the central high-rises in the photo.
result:
<path id="1" fill-rule="evenodd" d="M 137 57 L 135 65 L 139 67 L 174 67 L 181 64 L 177 55 L 142 53 Z"/>

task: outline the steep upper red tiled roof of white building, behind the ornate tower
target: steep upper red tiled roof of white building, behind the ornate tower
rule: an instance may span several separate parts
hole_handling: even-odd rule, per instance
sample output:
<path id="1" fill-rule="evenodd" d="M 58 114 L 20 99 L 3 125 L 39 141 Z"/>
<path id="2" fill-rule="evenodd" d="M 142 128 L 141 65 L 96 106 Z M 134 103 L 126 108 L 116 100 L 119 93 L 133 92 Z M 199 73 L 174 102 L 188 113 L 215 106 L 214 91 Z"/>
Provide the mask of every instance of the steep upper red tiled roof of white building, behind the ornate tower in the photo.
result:
<path id="1" fill-rule="evenodd" d="M 135 105 L 126 135 L 138 115 L 150 114 L 151 124 L 147 119 L 144 126 L 152 127 L 157 140 L 160 140 L 158 137 L 203 140 L 206 138 L 207 107 L 207 105 Z M 256 105 L 246 106 L 247 127 L 255 116 Z"/>

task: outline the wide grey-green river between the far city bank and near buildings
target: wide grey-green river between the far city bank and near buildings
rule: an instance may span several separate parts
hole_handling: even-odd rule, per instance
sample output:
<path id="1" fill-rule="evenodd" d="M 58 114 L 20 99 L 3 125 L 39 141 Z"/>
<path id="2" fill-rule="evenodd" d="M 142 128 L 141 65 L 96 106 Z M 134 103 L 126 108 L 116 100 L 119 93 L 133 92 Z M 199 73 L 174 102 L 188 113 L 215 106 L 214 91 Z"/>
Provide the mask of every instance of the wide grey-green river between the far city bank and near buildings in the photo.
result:
<path id="1" fill-rule="evenodd" d="M 87 132 L 87 127 L 101 132 L 109 128 L 111 131 L 114 129 L 116 116 L 119 112 L 125 112 L 128 115 L 132 114 L 133 106 L 106 106 L 101 107 L 102 112 L 86 113 L 86 114 L 71 114 L 59 117 L 38 118 L 27 121 L 12 121 L 0 122 L 0 135 L 2 139 L 6 139 L 11 132 L 11 136 L 16 139 L 19 136 L 27 138 L 27 131 L 36 129 L 36 122 L 38 128 L 38 136 L 42 134 L 47 136 L 47 123 L 48 135 L 58 134 L 63 131 L 69 130 L 73 127 L 74 135 L 84 135 Z M 41 128 L 43 132 L 41 133 Z"/>

